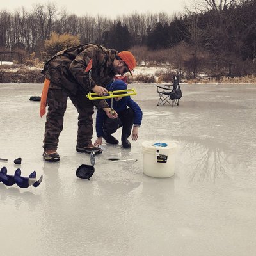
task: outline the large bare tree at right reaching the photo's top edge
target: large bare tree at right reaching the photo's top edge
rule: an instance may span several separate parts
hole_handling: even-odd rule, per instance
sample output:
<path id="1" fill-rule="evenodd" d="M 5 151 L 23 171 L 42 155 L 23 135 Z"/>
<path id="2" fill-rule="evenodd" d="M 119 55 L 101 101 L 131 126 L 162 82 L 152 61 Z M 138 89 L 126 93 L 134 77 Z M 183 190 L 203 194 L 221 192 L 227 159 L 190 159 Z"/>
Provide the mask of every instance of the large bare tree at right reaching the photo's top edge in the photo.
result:
<path id="1" fill-rule="evenodd" d="M 215 65 L 213 68 L 220 72 L 218 76 L 225 74 L 227 70 L 228 76 L 232 76 L 234 70 L 237 75 L 241 74 L 237 65 L 242 61 L 244 38 L 250 29 L 244 26 L 246 12 L 239 13 L 240 2 L 239 0 L 196 2 L 195 9 L 201 11 L 202 17 L 204 15 L 205 26 L 208 28 L 208 31 L 205 31 L 203 47 L 211 52 L 211 61 Z"/>

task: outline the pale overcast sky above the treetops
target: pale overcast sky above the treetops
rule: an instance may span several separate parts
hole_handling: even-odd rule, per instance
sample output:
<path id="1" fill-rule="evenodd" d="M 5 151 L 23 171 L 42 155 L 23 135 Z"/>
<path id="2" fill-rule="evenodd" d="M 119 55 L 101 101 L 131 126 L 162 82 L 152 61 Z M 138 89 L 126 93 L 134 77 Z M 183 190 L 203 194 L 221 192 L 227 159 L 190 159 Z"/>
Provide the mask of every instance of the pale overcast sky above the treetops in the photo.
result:
<path id="1" fill-rule="evenodd" d="M 1 0 L 0 11 L 9 10 L 13 12 L 20 7 L 31 10 L 36 3 L 45 4 L 49 0 Z M 132 12 L 137 13 L 158 13 L 166 12 L 172 15 L 177 12 L 184 12 L 184 4 L 189 4 L 189 0 L 54 0 L 50 3 L 56 4 L 58 10 L 65 8 L 68 14 L 77 16 L 97 14 L 115 19 L 118 15 Z M 125 4 L 123 4 L 125 3 Z"/>

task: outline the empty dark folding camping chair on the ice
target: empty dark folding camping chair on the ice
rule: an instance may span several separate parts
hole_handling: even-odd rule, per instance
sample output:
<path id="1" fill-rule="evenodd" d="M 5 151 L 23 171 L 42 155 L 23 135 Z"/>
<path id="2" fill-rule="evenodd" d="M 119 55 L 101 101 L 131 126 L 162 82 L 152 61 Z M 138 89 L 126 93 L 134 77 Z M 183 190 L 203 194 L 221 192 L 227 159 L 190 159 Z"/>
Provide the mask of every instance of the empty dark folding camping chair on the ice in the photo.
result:
<path id="1" fill-rule="evenodd" d="M 166 103 L 172 104 L 172 107 L 173 104 L 179 106 L 179 99 L 182 97 L 179 76 L 173 76 L 172 85 L 172 88 L 168 85 L 165 85 L 164 87 L 156 85 L 157 93 L 159 95 L 157 106 L 160 104 L 164 105 Z"/>

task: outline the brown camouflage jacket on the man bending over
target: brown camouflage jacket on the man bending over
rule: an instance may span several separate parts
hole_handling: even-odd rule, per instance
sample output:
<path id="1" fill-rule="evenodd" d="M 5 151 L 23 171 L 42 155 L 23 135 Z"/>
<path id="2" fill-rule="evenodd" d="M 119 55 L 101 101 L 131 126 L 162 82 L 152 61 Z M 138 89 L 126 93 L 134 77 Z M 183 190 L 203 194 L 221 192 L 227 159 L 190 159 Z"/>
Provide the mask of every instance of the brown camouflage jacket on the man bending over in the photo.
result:
<path id="1" fill-rule="evenodd" d="M 50 88 L 63 87 L 74 94 L 77 91 L 87 94 L 96 84 L 106 87 L 113 81 L 113 61 L 116 54 L 116 50 L 106 49 L 98 44 L 78 45 L 54 55 L 45 63 L 42 74 L 52 81 Z M 85 72 L 85 69 L 91 59 L 90 80 L 89 72 Z M 92 103 L 99 109 L 108 106 L 105 100 L 92 100 Z"/>

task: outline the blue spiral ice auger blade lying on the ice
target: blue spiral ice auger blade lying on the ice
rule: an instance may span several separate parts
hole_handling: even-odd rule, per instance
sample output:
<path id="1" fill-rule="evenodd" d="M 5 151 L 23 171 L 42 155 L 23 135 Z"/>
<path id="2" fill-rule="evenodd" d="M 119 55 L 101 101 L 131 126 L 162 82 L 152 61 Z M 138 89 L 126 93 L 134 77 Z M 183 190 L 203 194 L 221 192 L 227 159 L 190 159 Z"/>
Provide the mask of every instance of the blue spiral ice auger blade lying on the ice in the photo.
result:
<path id="1" fill-rule="evenodd" d="M 3 182 L 6 186 L 12 186 L 16 183 L 20 188 L 28 188 L 31 185 L 38 187 L 42 180 L 43 175 L 39 180 L 36 179 L 36 171 L 31 173 L 29 177 L 22 177 L 20 168 L 15 171 L 14 175 L 8 175 L 6 167 L 1 168 L 0 171 L 0 182 Z"/>

